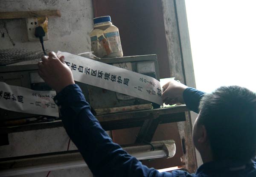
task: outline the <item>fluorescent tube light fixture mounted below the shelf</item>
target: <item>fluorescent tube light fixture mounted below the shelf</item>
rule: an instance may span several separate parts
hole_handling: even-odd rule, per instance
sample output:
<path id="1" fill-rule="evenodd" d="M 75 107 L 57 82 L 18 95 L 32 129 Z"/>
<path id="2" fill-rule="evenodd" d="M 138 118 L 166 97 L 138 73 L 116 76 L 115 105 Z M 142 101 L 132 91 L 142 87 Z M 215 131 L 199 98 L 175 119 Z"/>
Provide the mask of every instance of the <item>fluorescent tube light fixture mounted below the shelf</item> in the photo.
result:
<path id="1" fill-rule="evenodd" d="M 152 142 L 151 145 L 125 146 L 123 149 L 138 160 L 146 160 L 171 158 L 175 155 L 175 147 L 174 140 L 165 140 Z M 7 177 L 77 167 L 87 167 L 78 150 L 9 157 L 0 159 L 0 176 Z"/>

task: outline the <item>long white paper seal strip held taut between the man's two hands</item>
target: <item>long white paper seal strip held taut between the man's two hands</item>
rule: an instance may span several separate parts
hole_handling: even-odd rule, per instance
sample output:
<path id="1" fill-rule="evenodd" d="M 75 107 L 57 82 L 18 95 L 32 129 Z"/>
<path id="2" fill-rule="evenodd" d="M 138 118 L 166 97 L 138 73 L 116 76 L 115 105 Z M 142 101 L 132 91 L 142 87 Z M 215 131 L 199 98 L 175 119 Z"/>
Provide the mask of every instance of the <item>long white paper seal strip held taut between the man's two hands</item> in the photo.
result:
<path id="1" fill-rule="evenodd" d="M 67 52 L 58 51 L 57 55 L 65 57 L 78 82 L 163 104 L 160 82 L 153 77 Z"/>

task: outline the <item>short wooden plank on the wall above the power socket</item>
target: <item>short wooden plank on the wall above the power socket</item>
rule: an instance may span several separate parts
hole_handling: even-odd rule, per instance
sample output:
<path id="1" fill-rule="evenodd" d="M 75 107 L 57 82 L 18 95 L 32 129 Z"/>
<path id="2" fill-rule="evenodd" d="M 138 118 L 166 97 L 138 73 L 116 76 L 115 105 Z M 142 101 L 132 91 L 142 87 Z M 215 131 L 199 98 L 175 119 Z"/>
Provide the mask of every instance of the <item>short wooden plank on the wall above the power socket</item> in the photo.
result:
<path id="1" fill-rule="evenodd" d="M 61 17 L 61 13 L 59 10 L 0 12 L 0 19 L 17 19 L 29 17 Z"/>

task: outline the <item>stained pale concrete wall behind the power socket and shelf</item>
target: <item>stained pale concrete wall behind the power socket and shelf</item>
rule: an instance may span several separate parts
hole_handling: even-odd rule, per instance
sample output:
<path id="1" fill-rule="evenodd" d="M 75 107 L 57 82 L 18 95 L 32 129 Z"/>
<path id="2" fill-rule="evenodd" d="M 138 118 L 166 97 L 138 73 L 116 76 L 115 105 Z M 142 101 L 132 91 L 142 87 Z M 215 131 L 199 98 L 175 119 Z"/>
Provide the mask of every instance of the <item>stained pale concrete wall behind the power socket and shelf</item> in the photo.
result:
<path id="1" fill-rule="evenodd" d="M 48 19 L 49 40 L 45 48 L 52 51 L 67 51 L 78 54 L 90 51 L 90 30 L 93 29 L 92 0 L 0 0 L 0 11 L 36 11 L 58 9 L 61 17 Z M 15 46 L 12 45 L 6 29 Z M 25 19 L 0 20 L 0 49 L 28 48 L 40 51 L 38 41 L 28 41 Z M 4 37 L 2 34 L 4 33 Z M 0 158 L 15 157 L 29 154 L 40 154 L 67 150 L 69 137 L 64 128 L 51 128 L 38 131 L 26 131 L 9 134 L 8 146 L 0 146 Z M 70 150 L 76 149 L 73 143 Z M 23 176 L 46 177 L 48 172 Z M 88 168 L 52 171 L 51 176 L 92 176 Z"/>

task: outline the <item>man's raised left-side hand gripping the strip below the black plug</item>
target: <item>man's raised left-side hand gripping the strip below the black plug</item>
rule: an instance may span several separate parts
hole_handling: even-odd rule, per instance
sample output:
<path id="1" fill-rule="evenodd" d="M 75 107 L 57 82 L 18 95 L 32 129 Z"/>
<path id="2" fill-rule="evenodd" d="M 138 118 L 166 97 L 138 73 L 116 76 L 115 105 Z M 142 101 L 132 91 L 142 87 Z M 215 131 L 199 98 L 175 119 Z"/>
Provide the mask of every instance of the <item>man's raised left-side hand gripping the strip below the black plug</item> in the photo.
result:
<path id="1" fill-rule="evenodd" d="M 73 74 L 64 63 L 64 56 L 57 57 L 55 52 L 50 52 L 49 56 L 43 56 L 38 62 L 38 74 L 57 93 L 70 84 L 74 84 Z"/>

